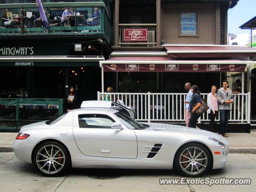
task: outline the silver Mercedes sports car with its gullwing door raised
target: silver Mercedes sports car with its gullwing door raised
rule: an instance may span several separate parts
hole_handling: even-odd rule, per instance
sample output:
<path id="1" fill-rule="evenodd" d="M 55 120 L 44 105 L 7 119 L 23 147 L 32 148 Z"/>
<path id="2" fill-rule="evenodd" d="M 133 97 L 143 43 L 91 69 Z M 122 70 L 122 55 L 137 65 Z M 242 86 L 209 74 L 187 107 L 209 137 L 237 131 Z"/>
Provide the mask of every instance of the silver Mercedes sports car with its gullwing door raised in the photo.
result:
<path id="1" fill-rule="evenodd" d="M 228 141 L 184 126 L 139 123 L 134 110 L 84 101 L 52 120 L 23 126 L 13 145 L 19 160 L 46 176 L 72 168 L 172 169 L 195 177 L 225 166 Z"/>

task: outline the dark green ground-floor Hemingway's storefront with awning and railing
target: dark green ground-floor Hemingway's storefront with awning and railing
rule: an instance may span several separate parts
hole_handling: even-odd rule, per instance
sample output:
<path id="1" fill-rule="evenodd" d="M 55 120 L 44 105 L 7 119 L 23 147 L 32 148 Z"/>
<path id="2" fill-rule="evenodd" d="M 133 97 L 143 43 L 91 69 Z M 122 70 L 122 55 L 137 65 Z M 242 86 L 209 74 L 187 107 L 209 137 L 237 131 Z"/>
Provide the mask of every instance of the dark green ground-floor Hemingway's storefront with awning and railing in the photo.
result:
<path id="1" fill-rule="evenodd" d="M 103 56 L 70 56 L 67 45 L 0 46 L 0 131 L 48 120 L 66 111 L 69 87 L 83 100 L 101 90 Z M 54 54 L 52 56 L 51 54 Z"/>

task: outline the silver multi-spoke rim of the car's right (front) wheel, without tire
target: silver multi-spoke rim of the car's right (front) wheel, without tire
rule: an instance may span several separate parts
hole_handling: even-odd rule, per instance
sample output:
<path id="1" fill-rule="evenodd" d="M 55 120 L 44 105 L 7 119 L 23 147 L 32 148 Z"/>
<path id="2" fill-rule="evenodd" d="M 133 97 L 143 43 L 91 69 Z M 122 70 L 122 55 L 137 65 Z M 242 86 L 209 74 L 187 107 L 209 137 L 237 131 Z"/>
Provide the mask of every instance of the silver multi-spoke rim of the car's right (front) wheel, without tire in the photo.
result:
<path id="1" fill-rule="evenodd" d="M 192 146 L 181 152 L 179 164 L 187 174 L 197 175 L 203 172 L 208 165 L 208 158 L 203 149 Z"/>

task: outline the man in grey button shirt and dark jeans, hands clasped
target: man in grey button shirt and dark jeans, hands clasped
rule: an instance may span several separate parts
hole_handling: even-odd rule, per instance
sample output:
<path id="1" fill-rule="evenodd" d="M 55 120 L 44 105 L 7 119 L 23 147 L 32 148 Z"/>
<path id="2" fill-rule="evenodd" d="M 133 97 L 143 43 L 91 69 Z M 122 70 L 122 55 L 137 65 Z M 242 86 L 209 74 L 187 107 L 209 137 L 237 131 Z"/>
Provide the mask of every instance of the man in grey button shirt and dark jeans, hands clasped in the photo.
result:
<path id="1" fill-rule="evenodd" d="M 219 134 L 228 137 L 226 131 L 228 129 L 228 119 L 231 111 L 231 104 L 234 102 L 232 91 L 228 88 L 228 81 L 222 82 L 222 88 L 218 89 L 217 100 L 220 111 L 220 128 Z"/>

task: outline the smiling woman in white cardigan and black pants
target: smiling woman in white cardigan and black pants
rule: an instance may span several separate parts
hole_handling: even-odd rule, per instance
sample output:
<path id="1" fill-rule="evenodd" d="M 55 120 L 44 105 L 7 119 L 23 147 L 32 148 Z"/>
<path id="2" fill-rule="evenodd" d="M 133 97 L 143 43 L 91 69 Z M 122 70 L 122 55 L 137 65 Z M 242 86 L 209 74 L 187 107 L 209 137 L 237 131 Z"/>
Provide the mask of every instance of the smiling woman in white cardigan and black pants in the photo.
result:
<path id="1" fill-rule="evenodd" d="M 216 97 L 216 86 L 211 87 L 211 92 L 207 96 L 207 104 L 209 109 L 207 110 L 210 117 L 210 130 L 213 131 L 214 120 L 218 114 L 218 101 Z"/>

